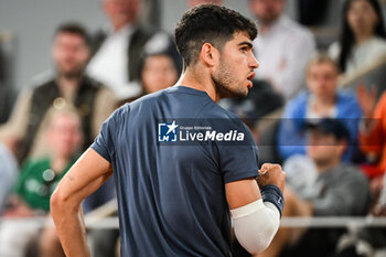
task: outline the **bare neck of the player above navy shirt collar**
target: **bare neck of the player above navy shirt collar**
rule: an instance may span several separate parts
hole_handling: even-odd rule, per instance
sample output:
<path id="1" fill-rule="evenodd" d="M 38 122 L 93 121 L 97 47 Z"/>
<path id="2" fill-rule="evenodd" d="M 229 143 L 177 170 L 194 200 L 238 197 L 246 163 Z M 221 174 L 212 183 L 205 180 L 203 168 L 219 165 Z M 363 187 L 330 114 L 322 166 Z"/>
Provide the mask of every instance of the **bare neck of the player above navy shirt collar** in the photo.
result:
<path id="1" fill-rule="evenodd" d="M 187 67 L 178 82 L 178 85 L 205 92 L 213 101 L 217 103 L 221 99 L 221 96 L 216 92 L 216 87 L 213 84 L 212 79 L 205 75 L 199 76 L 197 74 L 204 73 L 201 73 L 197 71 L 197 68 Z"/>

